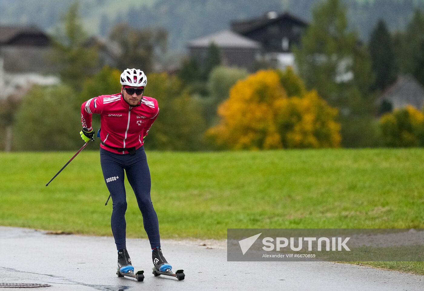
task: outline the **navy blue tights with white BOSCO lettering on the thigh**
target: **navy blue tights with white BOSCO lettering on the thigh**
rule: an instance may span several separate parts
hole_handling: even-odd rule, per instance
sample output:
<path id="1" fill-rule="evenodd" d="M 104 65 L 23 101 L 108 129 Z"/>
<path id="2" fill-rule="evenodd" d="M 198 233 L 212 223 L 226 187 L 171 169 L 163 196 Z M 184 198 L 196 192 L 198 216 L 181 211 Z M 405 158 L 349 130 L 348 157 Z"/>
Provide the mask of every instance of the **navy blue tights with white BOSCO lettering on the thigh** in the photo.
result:
<path id="1" fill-rule="evenodd" d="M 159 223 L 150 198 L 150 171 L 144 147 L 137 149 L 134 155 L 115 154 L 100 148 L 100 164 L 103 177 L 113 201 L 111 218 L 112 233 L 116 248 L 126 249 L 125 212 L 127 201 L 124 186 L 124 170 L 128 182 L 134 190 L 138 207 L 143 216 L 143 225 L 153 248 L 160 246 Z"/>

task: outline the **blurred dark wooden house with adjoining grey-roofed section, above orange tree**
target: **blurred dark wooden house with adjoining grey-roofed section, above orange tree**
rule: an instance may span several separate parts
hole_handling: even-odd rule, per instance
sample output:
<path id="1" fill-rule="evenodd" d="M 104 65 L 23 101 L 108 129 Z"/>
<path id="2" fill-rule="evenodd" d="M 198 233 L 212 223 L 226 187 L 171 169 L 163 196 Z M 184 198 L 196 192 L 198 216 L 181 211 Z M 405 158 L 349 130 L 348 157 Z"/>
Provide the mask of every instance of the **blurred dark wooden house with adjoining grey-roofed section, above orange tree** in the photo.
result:
<path id="1" fill-rule="evenodd" d="M 214 43 L 221 53 L 221 62 L 229 66 L 252 71 L 261 62 L 274 68 L 294 66 L 292 48 L 300 45 L 307 28 L 303 20 L 284 12 L 271 11 L 262 17 L 237 20 L 231 23 L 231 31 L 219 31 L 188 42 L 191 58 L 202 68 L 209 46 Z"/>

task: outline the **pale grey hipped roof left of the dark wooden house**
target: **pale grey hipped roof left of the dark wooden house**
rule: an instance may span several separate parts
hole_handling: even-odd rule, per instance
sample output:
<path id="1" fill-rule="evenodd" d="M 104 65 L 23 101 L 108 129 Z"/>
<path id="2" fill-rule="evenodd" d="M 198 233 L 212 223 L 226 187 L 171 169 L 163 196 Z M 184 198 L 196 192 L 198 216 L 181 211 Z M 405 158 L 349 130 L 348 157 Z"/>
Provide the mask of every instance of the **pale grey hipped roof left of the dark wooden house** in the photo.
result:
<path id="1" fill-rule="evenodd" d="M 214 34 L 199 37 L 188 42 L 188 47 L 207 48 L 212 43 L 218 46 L 218 48 L 261 48 L 261 44 L 259 42 L 229 30 L 218 31 Z"/>

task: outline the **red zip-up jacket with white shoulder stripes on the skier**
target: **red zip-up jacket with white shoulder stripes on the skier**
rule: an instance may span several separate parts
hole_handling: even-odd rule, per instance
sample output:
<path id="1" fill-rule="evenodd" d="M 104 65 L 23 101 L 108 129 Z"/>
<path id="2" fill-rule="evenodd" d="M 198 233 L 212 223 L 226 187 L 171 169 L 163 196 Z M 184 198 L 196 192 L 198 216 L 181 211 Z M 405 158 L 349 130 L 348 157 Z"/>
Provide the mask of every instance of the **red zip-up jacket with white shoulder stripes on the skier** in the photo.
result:
<path id="1" fill-rule="evenodd" d="M 130 106 L 121 93 L 101 95 L 81 105 L 81 123 L 92 129 L 92 113 L 100 114 L 100 147 L 112 153 L 124 154 L 127 150 L 110 147 L 138 149 L 159 113 L 156 99 L 143 96 L 140 106 Z M 110 146 L 110 147 L 107 147 Z"/>

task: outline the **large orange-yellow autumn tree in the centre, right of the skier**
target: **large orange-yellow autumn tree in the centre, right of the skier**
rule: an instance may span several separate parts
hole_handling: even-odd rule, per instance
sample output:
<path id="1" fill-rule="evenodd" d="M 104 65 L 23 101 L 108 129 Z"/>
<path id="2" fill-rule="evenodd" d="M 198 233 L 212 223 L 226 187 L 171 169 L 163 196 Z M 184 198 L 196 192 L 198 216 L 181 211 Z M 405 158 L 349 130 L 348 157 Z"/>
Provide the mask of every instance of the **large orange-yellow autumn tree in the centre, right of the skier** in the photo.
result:
<path id="1" fill-rule="evenodd" d="M 281 74 L 258 71 L 238 81 L 218 107 L 220 124 L 206 135 L 230 149 L 338 147 L 337 110 L 315 91 L 287 97 Z"/>

